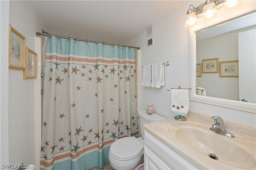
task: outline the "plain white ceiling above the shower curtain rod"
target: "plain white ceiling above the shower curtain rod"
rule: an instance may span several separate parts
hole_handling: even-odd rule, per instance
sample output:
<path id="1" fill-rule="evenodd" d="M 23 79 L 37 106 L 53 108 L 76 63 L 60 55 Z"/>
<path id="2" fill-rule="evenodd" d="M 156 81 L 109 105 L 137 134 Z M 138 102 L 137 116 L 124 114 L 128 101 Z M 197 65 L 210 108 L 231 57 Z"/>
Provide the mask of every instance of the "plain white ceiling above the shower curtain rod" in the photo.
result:
<path id="1" fill-rule="evenodd" d="M 183 6 L 189 6 L 189 1 L 40 0 L 32 4 L 50 34 L 122 45 Z"/>

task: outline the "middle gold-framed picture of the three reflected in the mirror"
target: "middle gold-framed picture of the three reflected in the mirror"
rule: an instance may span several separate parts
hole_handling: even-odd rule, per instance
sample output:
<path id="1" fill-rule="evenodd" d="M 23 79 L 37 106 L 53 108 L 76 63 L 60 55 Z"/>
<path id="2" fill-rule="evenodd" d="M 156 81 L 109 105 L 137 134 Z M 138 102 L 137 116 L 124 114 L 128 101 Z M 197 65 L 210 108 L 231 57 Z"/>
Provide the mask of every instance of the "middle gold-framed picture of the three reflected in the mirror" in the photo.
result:
<path id="1" fill-rule="evenodd" d="M 219 72 L 219 58 L 202 60 L 203 73 L 218 73 Z"/>

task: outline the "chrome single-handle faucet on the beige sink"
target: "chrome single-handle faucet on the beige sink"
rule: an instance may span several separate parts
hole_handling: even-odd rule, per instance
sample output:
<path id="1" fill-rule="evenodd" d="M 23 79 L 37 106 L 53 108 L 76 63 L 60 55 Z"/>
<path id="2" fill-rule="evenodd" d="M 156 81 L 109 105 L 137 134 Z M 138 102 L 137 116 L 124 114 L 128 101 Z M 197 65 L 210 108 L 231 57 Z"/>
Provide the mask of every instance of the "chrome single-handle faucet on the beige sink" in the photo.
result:
<path id="1" fill-rule="evenodd" d="M 214 124 L 212 124 L 212 127 L 210 127 L 210 130 L 220 133 L 221 135 L 225 135 L 227 137 L 235 137 L 232 133 L 227 131 L 227 129 L 224 127 L 224 121 L 220 116 L 212 116 L 212 119 L 214 119 Z"/>

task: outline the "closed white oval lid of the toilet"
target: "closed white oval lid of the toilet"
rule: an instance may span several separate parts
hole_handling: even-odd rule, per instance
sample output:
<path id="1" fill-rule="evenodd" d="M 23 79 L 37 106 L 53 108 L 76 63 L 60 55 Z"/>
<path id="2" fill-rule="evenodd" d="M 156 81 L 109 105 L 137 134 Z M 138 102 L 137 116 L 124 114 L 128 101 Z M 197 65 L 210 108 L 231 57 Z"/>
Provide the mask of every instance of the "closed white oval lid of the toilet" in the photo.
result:
<path id="1" fill-rule="evenodd" d="M 117 158 L 131 158 L 143 152 L 143 147 L 135 137 L 125 137 L 112 143 L 110 152 Z"/>

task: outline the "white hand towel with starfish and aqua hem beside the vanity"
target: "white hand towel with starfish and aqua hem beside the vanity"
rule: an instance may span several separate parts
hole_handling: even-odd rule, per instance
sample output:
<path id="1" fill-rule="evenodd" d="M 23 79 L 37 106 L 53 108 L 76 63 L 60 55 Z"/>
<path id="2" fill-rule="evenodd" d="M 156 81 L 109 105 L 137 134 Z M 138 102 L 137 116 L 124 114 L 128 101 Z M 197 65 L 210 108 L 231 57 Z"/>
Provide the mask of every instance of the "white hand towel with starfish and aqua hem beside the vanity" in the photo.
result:
<path id="1" fill-rule="evenodd" d="M 186 116 L 188 110 L 188 91 L 172 89 L 172 113 Z"/>

